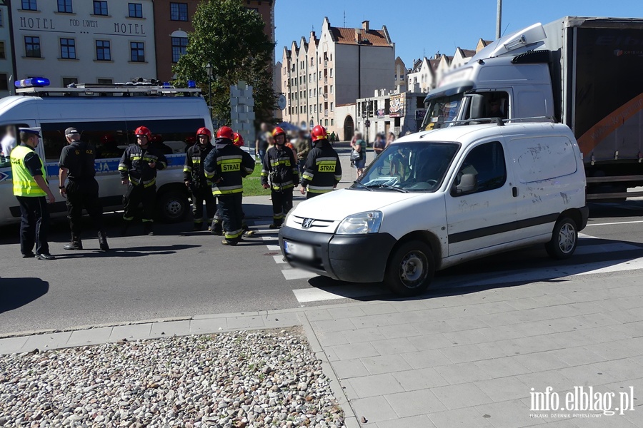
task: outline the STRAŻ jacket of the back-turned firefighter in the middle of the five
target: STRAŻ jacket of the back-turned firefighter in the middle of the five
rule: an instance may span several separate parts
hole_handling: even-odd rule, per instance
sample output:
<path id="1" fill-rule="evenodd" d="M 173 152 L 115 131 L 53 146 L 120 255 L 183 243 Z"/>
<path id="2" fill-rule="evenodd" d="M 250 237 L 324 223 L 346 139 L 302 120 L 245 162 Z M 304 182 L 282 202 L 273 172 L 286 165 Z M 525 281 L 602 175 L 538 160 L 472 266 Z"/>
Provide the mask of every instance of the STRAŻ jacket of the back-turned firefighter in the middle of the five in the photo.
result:
<path id="1" fill-rule="evenodd" d="M 212 194 L 243 193 L 243 178 L 254 171 L 254 159 L 229 138 L 216 138 L 214 148 L 204 162 L 205 176 L 212 185 Z"/>

